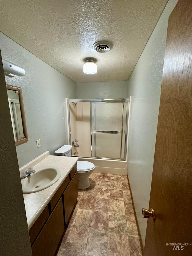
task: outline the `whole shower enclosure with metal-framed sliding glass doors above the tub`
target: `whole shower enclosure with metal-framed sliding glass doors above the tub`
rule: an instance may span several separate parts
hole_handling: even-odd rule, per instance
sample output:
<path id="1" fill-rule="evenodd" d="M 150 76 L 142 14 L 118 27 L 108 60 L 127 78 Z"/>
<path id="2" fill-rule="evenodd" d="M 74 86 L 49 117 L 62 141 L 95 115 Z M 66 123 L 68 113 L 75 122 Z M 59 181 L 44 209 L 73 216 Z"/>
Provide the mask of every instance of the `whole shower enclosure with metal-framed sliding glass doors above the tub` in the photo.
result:
<path id="1" fill-rule="evenodd" d="M 73 156 L 126 161 L 129 99 L 67 99 L 67 110 Z"/>

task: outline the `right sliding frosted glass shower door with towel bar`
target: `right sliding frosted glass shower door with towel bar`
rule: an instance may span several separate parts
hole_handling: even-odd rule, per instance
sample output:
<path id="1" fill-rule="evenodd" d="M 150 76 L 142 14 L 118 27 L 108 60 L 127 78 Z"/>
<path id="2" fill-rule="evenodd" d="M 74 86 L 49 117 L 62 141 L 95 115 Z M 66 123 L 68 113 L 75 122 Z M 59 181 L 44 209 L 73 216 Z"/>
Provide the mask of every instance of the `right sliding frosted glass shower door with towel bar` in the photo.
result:
<path id="1" fill-rule="evenodd" d="M 91 102 L 91 157 L 124 159 L 127 102 Z"/>

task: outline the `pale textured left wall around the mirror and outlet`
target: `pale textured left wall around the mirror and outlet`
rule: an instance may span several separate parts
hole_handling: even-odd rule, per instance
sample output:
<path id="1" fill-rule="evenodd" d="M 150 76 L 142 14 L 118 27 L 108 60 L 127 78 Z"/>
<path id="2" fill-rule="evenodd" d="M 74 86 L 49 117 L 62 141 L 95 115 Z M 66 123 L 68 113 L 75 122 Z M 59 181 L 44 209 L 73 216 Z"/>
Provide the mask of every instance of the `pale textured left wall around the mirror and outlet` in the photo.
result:
<path id="1" fill-rule="evenodd" d="M 76 83 L 19 44 L 0 34 L 2 58 L 25 69 L 24 77 L 5 77 L 22 87 L 29 141 L 16 147 L 19 167 L 67 144 L 65 97 L 76 98 Z M 41 140 L 37 148 L 36 140 Z"/>

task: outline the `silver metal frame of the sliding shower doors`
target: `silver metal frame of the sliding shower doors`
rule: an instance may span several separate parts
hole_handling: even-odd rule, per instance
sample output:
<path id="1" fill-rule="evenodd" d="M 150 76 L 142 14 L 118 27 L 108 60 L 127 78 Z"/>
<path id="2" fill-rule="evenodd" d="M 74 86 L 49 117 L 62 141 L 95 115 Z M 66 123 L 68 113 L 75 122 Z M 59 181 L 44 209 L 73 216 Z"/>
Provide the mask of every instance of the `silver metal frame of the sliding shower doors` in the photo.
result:
<path id="1" fill-rule="evenodd" d="M 69 99 L 67 98 L 67 113 L 68 113 L 68 128 L 69 128 L 69 143 L 71 145 L 71 127 L 70 127 L 70 107 L 69 103 L 70 102 L 90 102 L 90 135 L 91 135 L 91 158 L 94 159 L 109 159 L 109 160 L 119 160 L 119 161 L 126 161 L 126 156 L 127 156 L 127 141 L 128 141 L 128 115 L 129 115 L 129 103 L 130 99 L 125 98 L 125 99 Z M 111 102 L 122 102 L 122 130 L 120 131 L 95 131 L 94 134 L 96 133 L 110 133 L 110 134 L 120 134 L 121 133 L 121 149 L 120 149 L 120 158 L 107 158 L 107 157 L 95 157 L 92 156 L 92 103 L 111 103 Z M 124 117 L 124 102 L 127 102 L 127 109 L 126 109 L 126 120 L 125 120 L 125 145 L 124 145 L 124 158 L 122 158 L 122 140 L 123 140 L 123 117 Z M 95 121 L 95 111 L 94 111 L 94 121 Z M 94 135 L 94 136 L 95 136 Z M 94 143 L 95 146 L 95 143 Z M 78 156 L 77 156 L 78 157 Z M 87 158 L 83 156 L 79 156 L 81 158 Z"/>

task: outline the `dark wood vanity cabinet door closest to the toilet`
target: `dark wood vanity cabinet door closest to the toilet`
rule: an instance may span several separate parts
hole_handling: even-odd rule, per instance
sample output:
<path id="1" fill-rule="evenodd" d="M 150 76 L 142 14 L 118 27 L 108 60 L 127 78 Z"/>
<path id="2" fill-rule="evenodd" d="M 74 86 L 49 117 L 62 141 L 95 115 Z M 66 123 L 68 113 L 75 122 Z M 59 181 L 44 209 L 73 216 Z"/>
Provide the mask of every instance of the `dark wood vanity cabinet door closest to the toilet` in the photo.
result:
<path id="1" fill-rule="evenodd" d="M 64 212 L 65 212 L 65 224 L 69 220 L 70 214 L 75 206 L 78 197 L 78 179 L 77 172 L 73 176 L 73 179 L 69 183 L 68 187 L 63 193 L 64 195 Z"/>

